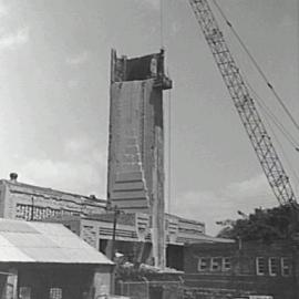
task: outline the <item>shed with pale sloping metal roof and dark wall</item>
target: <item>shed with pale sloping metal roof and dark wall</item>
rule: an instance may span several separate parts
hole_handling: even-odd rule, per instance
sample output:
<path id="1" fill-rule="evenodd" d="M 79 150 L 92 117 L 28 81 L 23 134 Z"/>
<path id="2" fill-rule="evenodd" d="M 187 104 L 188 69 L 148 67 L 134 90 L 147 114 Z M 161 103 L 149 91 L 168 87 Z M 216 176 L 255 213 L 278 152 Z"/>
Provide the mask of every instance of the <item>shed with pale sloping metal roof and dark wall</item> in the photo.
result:
<path id="1" fill-rule="evenodd" d="M 113 267 L 61 224 L 0 219 L 1 299 L 109 295 Z"/>

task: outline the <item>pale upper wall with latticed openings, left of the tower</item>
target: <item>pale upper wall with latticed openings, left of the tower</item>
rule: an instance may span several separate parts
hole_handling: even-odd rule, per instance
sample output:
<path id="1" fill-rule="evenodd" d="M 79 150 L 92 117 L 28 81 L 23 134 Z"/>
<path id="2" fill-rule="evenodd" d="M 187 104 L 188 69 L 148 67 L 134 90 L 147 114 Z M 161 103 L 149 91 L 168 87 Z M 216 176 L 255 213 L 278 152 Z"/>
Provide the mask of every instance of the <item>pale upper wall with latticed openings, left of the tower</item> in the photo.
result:
<path id="1" fill-rule="evenodd" d="M 2 179 L 0 190 L 0 215 L 4 218 L 38 220 L 53 216 L 105 213 L 105 200 L 51 188 Z"/>

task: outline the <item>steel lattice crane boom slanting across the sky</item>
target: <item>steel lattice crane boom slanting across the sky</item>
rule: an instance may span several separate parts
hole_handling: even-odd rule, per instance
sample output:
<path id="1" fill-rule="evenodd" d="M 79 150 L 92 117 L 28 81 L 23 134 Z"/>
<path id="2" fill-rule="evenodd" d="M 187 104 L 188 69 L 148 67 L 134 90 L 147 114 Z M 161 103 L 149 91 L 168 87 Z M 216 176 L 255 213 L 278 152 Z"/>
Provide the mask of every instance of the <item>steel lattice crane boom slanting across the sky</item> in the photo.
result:
<path id="1" fill-rule="evenodd" d="M 297 207 L 290 179 L 262 123 L 207 0 L 189 0 L 259 164 L 280 205 Z"/>

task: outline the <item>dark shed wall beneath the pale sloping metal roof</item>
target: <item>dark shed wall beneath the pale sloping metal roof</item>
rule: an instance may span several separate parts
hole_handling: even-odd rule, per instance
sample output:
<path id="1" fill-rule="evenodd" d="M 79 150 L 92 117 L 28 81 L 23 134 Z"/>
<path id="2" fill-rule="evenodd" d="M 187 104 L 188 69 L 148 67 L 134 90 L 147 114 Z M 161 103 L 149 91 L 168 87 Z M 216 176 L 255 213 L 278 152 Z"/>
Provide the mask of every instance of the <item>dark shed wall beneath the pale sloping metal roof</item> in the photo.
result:
<path id="1" fill-rule="evenodd" d="M 65 299 L 111 293 L 113 266 L 33 264 L 19 265 L 18 270 L 19 290 L 29 288 L 27 292 L 31 292 L 32 299 L 50 298 L 50 291 L 62 292 Z"/>

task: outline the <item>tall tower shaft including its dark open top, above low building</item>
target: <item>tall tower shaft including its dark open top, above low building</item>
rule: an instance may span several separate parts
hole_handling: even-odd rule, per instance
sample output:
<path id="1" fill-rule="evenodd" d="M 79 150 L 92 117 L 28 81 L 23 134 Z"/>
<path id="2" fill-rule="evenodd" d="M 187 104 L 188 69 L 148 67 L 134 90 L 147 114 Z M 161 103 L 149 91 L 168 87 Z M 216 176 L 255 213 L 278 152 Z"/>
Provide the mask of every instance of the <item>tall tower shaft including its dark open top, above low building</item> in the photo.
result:
<path id="1" fill-rule="evenodd" d="M 163 87 L 155 84 L 152 60 L 159 60 L 162 71 L 162 54 L 123 60 L 112 55 L 107 197 L 127 210 L 148 212 L 153 199 L 164 200 L 163 185 L 161 195 L 154 187 L 163 184 L 157 176 L 164 175 Z"/>

